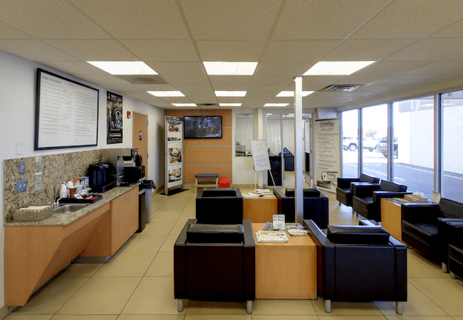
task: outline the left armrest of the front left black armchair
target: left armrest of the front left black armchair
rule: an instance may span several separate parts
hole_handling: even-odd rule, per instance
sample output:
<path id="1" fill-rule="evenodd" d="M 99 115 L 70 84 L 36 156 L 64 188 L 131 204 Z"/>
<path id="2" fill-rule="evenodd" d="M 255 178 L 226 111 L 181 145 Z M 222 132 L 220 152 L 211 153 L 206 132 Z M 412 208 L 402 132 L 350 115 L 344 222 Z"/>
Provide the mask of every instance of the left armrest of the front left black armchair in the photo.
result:
<path id="1" fill-rule="evenodd" d="M 175 299 L 184 299 L 185 292 L 185 245 L 187 243 L 187 230 L 190 224 L 196 223 L 196 219 L 189 219 L 174 245 L 174 293 Z"/>

